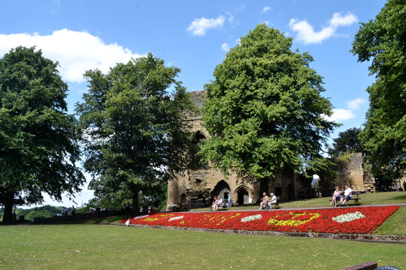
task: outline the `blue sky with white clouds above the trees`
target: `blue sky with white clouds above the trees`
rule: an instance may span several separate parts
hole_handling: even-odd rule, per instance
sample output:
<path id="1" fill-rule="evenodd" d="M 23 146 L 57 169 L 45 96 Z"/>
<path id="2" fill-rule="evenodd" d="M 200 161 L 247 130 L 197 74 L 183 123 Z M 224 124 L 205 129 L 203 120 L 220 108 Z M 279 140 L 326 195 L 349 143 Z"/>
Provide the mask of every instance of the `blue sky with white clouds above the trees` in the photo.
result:
<path id="1" fill-rule="evenodd" d="M 151 52 L 177 66 L 188 91 L 203 90 L 215 66 L 257 24 L 266 23 L 293 38 L 292 50 L 309 51 L 312 67 L 324 76 L 323 93 L 333 106 L 332 120 L 342 123 L 332 134 L 360 127 L 368 107 L 367 63 L 349 52 L 359 22 L 374 19 L 386 1 L 0 1 L 0 57 L 19 45 L 42 49 L 60 63 L 69 85 L 73 112 L 86 91 L 83 73 L 104 72 Z M 92 197 L 87 190 L 76 202 Z M 72 205 L 53 202 L 45 204 Z"/>

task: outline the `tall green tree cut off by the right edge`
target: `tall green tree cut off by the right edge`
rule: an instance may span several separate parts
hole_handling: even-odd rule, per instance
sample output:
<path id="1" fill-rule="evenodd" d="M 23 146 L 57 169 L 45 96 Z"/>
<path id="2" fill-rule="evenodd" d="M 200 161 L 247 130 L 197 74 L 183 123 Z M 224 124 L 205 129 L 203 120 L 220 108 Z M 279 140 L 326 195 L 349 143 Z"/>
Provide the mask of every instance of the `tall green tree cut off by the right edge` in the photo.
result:
<path id="1" fill-rule="evenodd" d="M 375 175 L 398 178 L 406 169 L 406 2 L 388 1 L 375 20 L 361 23 L 352 52 L 370 61 L 376 82 L 360 134 Z"/>

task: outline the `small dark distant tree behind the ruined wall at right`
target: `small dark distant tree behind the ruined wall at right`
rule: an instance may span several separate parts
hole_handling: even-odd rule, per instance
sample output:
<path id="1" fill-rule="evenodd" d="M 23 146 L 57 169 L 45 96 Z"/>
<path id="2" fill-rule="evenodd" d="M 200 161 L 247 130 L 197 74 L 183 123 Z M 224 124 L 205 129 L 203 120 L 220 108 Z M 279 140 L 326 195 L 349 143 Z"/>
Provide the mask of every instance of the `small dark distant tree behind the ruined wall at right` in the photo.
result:
<path id="1" fill-rule="evenodd" d="M 337 157 L 343 155 L 345 152 L 363 152 L 361 141 L 358 138 L 361 129 L 351 128 L 346 131 L 340 132 L 339 136 L 333 139 L 333 143 L 328 148 L 328 155 Z"/>

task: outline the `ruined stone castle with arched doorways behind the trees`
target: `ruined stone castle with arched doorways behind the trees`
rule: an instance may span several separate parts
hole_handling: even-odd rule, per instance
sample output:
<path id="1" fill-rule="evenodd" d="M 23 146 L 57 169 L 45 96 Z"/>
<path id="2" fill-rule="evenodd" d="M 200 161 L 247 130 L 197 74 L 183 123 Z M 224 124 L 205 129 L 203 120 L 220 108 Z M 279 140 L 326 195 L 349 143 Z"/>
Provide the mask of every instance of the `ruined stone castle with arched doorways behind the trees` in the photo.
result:
<path id="1" fill-rule="evenodd" d="M 190 92 L 194 104 L 201 108 L 206 98 L 206 91 Z M 188 115 L 185 121 L 192 127 L 191 140 L 197 145 L 209 139 L 210 134 L 201 126 L 200 115 Z M 193 169 L 185 170 L 183 173 L 175 175 L 168 181 L 167 189 L 167 209 L 172 205 L 185 204 L 190 201 L 197 201 L 206 195 L 207 198 L 220 196 L 227 199 L 231 195 L 234 203 L 239 205 L 257 202 L 262 197 L 260 183 L 242 183 L 235 174 L 230 174 L 226 179 L 221 170 L 212 167 L 211 162 L 199 165 L 199 159 L 192 157 Z M 320 190 L 322 194 L 331 195 L 335 185 L 344 188 L 345 183 L 349 183 L 353 190 L 365 192 L 375 192 L 375 181 L 363 170 L 363 158 L 361 153 L 355 153 L 348 162 L 337 163 L 335 176 L 329 179 L 320 180 Z M 276 175 L 273 181 L 268 181 L 268 192 L 273 192 L 281 200 L 295 200 L 302 198 L 312 198 L 311 178 L 306 178 L 295 173 L 292 169 L 286 169 Z"/>

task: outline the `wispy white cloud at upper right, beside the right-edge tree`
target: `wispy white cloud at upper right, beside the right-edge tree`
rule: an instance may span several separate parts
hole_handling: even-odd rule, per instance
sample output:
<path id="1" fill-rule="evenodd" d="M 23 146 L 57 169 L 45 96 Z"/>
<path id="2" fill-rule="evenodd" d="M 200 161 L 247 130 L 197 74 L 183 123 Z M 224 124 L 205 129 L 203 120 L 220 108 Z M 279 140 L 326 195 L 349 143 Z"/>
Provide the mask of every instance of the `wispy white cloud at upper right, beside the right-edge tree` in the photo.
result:
<path id="1" fill-rule="evenodd" d="M 297 32 L 296 40 L 302 41 L 304 44 L 314 44 L 321 43 L 327 38 L 337 35 L 335 33 L 337 27 L 348 26 L 357 21 L 357 17 L 352 13 L 347 13 L 345 16 L 342 16 L 341 13 L 334 13 L 328 21 L 328 25 L 318 32 L 315 32 L 313 26 L 307 20 L 291 19 L 289 27 Z"/>

